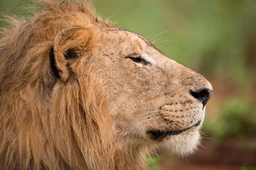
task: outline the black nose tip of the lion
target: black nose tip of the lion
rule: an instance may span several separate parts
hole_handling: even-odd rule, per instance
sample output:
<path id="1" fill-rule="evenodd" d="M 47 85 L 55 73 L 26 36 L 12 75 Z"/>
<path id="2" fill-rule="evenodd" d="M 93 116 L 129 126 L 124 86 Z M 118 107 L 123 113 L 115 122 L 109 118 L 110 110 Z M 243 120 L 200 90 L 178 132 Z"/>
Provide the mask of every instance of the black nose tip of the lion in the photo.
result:
<path id="1" fill-rule="evenodd" d="M 208 88 L 200 89 L 197 92 L 193 92 L 192 90 L 190 90 L 190 94 L 198 99 L 198 101 L 202 102 L 204 107 L 207 101 L 209 101 L 212 96 L 212 90 Z"/>

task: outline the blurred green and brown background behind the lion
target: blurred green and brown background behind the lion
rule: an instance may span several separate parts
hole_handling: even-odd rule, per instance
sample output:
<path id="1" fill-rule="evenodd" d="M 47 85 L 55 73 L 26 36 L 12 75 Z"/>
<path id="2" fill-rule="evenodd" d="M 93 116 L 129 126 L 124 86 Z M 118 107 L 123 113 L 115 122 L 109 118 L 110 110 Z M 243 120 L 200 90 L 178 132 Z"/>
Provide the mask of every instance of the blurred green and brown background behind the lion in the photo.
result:
<path id="1" fill-rule="evenodd" d="M 211 81 L 202 146 L 180 158 L 163 148 L 149 169 L 256 169 L 256 1 L 94 0 L 104 18 L 138 32 Z M 0 0 L 2 14 L 28 18 L 24 0 Z M 4 27 L 5 22 L 0 22 Z M 1 54 L 0 54 L 1 55 Z"/>

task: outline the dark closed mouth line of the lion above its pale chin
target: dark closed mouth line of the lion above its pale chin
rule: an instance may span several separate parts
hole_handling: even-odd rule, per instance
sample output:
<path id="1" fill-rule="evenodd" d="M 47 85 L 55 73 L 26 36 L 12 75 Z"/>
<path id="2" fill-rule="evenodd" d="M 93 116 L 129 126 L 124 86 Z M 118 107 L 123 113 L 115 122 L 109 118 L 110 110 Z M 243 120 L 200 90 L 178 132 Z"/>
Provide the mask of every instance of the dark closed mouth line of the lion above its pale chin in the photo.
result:
<path id="1" fill-rule="evenodd" d="M 200 124 L 200 121 L 198 121 L 195 125 L 187 127 L 180 131 L 150 130 L 150 131 L 147 131 L 147 134 L 150 134 L 151 138 L 153 138 L 154 140 L 157 140 L 157 139 L 159 140 L 159 139 L 165 138 L 166 136 L 175 136 L 175 135 L 181 134 L 182 132 L 187 131 L 188 129 L 191 129 L 192 127 L 197 127 L 199 124 Z"/>

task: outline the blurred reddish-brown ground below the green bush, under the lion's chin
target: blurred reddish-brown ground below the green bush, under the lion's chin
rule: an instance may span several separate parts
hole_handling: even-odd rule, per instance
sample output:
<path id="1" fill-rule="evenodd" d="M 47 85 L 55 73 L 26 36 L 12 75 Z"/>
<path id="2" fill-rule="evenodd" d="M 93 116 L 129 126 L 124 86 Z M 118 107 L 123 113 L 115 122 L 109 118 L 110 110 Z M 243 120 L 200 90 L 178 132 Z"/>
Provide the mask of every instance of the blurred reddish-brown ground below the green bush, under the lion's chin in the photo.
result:
<path id="1" fill-rule="evenodd" d="M 162 162 L 162 169 L 241 169 L 244 165 L 256 165 L 256 152 L 237 147 L 232 141 L 212 146 L 204 140 L 198 151 L 178 162 Z"/>

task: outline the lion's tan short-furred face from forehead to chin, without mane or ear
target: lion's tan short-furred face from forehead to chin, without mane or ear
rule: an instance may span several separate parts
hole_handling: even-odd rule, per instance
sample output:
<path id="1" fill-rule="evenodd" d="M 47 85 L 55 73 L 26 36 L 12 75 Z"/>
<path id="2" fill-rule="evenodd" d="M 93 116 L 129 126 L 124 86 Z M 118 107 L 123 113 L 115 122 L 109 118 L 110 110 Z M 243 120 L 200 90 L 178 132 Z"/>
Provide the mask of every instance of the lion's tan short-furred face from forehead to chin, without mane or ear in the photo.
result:
<path id="1" fill-rule="evenodd" d="M 175 153 L 192 152 L 212 93 L 209 81 L 138 34 L 100 32 L 84 69 L 104 80 L 118 146 L 163 144 Z"/>

